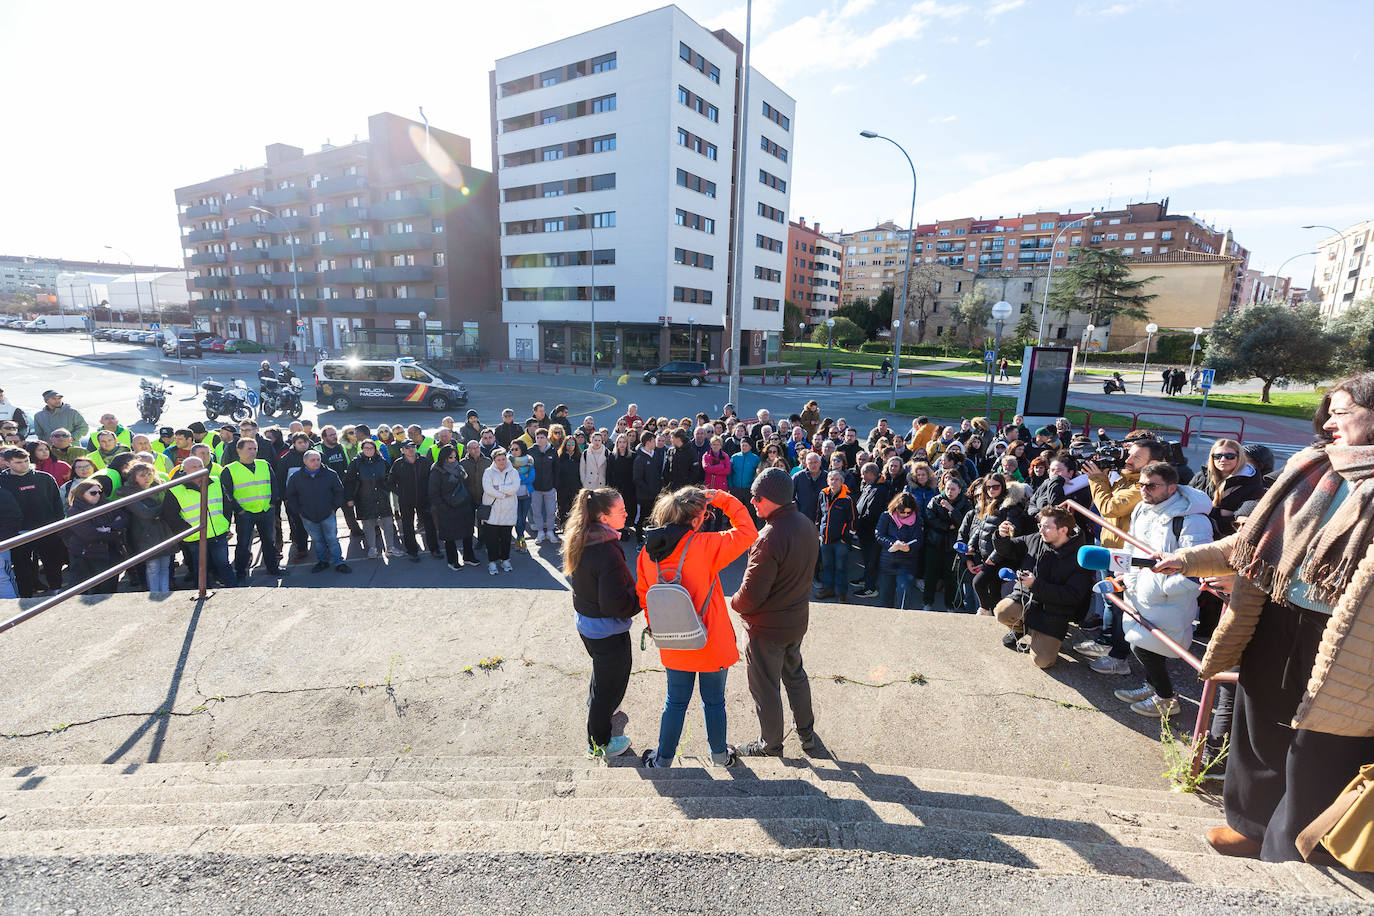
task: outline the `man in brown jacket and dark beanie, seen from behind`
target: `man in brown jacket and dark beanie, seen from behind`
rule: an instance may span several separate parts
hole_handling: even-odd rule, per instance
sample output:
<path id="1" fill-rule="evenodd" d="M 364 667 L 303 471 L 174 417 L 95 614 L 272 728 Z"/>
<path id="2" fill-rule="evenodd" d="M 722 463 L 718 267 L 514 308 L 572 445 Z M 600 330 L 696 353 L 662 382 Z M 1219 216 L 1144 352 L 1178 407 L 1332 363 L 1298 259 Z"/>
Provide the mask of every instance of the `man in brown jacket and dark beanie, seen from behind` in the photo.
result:
<path id="1" fill-rule="evenodd" d="M 749 548 L 745 581 L 730 603 L 745 623 L 749 645 L 749 692 L 758 714 L 758 740 L 742 744 L 743 757 L 782 757 L 782 687 L 801 739 L 801 748 L 820 750 L 811 709 L 811 681 L 801 666 L 801 640 L 811 611 L 811 578 L 820 542 L 816 526 L 797 511 L 791 478 L 768 468 L 754 478 L 753 505 L 764 519 Z"/>

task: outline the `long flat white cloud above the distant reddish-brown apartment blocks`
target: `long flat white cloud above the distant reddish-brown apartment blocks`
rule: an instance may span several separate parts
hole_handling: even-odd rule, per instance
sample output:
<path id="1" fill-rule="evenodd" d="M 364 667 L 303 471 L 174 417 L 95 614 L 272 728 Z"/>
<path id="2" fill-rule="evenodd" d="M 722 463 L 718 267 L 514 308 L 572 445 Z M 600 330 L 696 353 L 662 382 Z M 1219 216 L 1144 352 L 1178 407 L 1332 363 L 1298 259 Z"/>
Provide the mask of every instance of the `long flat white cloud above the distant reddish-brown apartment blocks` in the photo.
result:
<path id="1" fill-rule="evenodd" d="M 1105 203 L 1107 188 L 1117 202 L 1183 188 L 1230 184 L 1285 176 L 1329 172 L 1349 161 L 1370 141 L 1300 144 L 1281 141 L 1191 143 L 1140 150 L 1096 150 L 1077 157 L 1029 162 L 1009 172 L 980 179 L 959 191 L 927 202 L 930 217 L 952 218 L 980 213 L 1015 213 L 1036 206 L 1066 207 Z"/>

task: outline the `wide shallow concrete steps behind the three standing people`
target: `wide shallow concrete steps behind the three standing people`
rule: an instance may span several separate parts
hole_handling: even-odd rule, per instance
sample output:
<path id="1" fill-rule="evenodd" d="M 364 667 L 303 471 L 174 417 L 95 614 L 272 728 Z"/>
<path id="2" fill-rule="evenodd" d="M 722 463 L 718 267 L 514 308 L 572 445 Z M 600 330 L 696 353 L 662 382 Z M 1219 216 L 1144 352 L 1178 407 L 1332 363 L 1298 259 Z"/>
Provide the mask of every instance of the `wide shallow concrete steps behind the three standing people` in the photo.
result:
<path id="1" fill-rule="evenodd" d="M 1338 869 L 1230 860 L 1215 799 L 830 759 L 390 757 L 66 764 L 0 770 L 0 857 L 537 853 L 992 862 L 1039 875 L 1374 901 Z M 78 857 L 78 858 L 70 858 Z M 14 860 L 11 860 L 14 861 Z"/>

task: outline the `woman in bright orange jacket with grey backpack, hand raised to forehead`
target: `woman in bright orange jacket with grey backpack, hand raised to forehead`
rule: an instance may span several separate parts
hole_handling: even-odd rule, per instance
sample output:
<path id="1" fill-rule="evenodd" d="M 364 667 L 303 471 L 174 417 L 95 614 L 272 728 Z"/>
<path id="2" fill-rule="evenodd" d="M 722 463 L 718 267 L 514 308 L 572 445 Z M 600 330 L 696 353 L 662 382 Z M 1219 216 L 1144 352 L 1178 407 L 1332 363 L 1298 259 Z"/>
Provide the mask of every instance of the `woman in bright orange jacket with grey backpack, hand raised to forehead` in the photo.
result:
<path id="1" fill-rule="evenodd" d="M 725 514 L 731 525 L 728 530 L 701 530 L 702 523 L 710 518 L 712 508 Z M 706 625 L 706 644 L 690 651 L 658 650 L 668 670 L 668 702 L 664 703 L 664 715 L 658 722 L 658 747 L 646 750 L 642 762 L 644 766 L 672 766 L 692 685 L 699 678 L 710 759 L 720 766 L 734 766 L 735 748 L 725 743 L 725 673 L 739 661 L 739 648 L 719 577 L 720 570 L 749 549 L 758 531 L 743 503 L 725 490 L 695 486 L 684 486 L 658 497 L 653 522 L 657 527 L 646 531 L 635 577 L 639 606 L 646 607 L 644 596 L 649 586 L 658 581 L 660 569 L 669 575 L 680 569 L 679 582 L 691 595 L 692 603 L 698 608 L 705 604 L 702 621 Z"/>

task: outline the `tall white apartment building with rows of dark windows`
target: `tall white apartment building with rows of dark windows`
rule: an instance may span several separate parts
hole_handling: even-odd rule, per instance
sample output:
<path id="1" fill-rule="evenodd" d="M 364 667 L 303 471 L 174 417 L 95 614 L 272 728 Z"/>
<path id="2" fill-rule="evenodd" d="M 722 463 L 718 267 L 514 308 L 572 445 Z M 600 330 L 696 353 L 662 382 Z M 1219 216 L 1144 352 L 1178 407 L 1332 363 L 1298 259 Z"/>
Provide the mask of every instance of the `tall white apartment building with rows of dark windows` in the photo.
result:
<path id="1" fill-rule="evenodd" d="M 664 7 L 496 62 L 502 310 L 510 356 L 723 364 L 735 137 L 743 168 L 742 363 L 778 353 L 796 102 L 743 48 Z M 595 316 L 594 316 L 595 310 Z"/>

